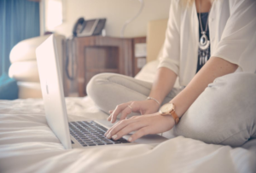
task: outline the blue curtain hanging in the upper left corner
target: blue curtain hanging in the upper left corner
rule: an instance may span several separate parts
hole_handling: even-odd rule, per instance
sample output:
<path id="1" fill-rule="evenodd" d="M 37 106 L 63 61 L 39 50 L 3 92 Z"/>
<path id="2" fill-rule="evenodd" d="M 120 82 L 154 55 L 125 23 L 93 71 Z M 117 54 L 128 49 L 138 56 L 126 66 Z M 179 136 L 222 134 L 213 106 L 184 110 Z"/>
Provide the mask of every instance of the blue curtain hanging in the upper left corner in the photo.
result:
<path id="1" fill-rule="evenodd" d="M 40 35 L 39 3 L 0 0 L 0 76 L 8 73 L 10 50 L 16 43 Z"/>

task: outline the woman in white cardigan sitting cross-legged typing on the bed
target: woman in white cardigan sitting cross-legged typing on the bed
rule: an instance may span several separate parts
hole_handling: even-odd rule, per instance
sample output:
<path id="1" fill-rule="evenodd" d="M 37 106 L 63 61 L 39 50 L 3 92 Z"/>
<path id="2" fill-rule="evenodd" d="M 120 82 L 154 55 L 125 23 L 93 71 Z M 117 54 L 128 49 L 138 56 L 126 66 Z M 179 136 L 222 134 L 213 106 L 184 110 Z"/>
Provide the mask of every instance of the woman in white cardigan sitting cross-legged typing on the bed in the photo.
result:
<path id="1" fill-rule="evenodd" d="M 232 147 L 256 137 L 255 16 L 254 0 L 172 0 L 154 83 L 103 73 L 87 86 L 104 112 L 116 106 L 109 121 L 120 113 L 105 135 L 118 140 L 137 130 L 135 141 L 174 128 L 176 136 Z M 180 92 L 172 89 L 177 76 Z M 131 112 L 142 116 L 126 118 Z"/>

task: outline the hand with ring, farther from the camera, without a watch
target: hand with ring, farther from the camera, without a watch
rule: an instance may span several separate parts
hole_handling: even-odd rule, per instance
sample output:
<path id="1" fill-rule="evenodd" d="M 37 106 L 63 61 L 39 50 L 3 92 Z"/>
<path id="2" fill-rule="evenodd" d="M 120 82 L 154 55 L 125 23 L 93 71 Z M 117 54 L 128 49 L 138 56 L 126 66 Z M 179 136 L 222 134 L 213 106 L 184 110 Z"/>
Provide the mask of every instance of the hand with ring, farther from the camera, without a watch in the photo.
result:
<path id="1" fill-rule="evenodd" d="M 114 123 L 119 113 L 121 113 L 120 120 L 122 120 L 125 119 L 127 115 L 131 112 L 138 112 L 141 115 L 151 114 L 157 112 L 159 107 L 160 105 L 154 100 L 129 101 L 126 103 L 122 103 L 115 107 L 114 110 L 109 111 L 110 115 L 107 119 L 108 121 Z"/>

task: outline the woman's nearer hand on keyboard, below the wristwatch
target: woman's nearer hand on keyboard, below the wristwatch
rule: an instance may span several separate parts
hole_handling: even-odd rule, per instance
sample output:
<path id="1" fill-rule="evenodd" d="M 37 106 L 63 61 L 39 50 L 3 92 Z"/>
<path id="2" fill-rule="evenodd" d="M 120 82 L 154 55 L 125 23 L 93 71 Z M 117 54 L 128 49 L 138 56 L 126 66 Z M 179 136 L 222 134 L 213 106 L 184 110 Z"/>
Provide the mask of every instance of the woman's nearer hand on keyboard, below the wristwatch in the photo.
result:
<path id="1" fill-rule="evenodd" d="M 148 134 L 159 134 L 171 130 L 175 122 L 171 115 L 162 116 L 159 112 L 143 116 L 133 116 L 114 124 L 106 133 L 109 139 L 118 140 L 131 131 L 137 130 L 128 141 L 136 141 Z"/>

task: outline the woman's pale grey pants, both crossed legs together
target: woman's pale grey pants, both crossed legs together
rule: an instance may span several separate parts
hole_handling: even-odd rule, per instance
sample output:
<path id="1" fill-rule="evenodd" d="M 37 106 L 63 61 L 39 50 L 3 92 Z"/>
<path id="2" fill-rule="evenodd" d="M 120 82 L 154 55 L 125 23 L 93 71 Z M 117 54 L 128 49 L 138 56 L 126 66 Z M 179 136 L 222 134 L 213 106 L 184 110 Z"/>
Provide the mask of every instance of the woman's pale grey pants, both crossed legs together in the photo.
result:
<path id="1" fill-rule="evenodd" d="M 145 100 L 151 83 L 114 73 L 91 78 L 87 93 L 103 112 L 120 103 Z M 172 89 L 162 104 L 180 89 Z M 237 72 L 216 78 L 173 128 L 175 136 L 239 147 L 256 137 L 256 74 Z"/>

